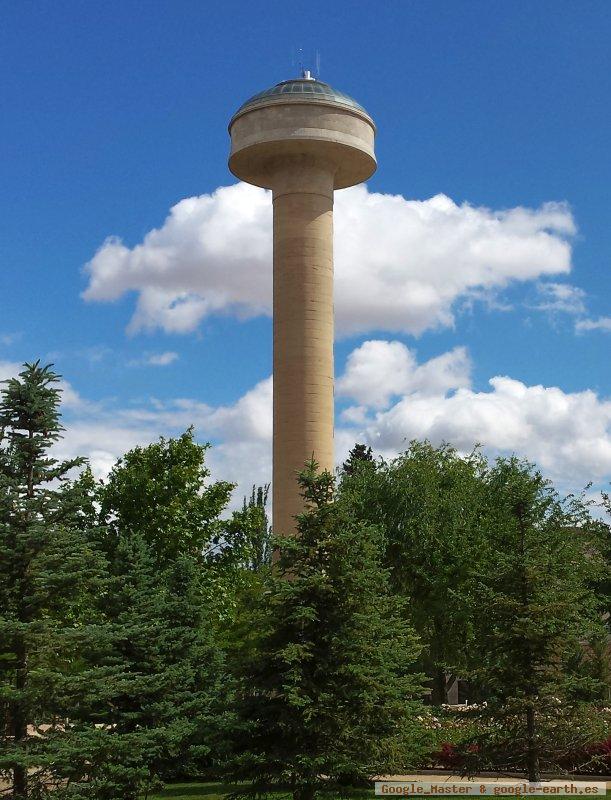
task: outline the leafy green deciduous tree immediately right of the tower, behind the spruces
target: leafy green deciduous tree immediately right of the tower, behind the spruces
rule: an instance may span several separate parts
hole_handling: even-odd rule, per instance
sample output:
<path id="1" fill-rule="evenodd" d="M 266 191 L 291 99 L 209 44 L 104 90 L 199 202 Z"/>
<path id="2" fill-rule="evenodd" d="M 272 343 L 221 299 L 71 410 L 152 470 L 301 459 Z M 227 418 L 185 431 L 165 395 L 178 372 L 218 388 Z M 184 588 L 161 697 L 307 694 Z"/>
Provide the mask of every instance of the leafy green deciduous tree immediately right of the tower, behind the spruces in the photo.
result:
<path id="1" fill-rule="evenodd" d="M 411 442 L 393 461 L 372 467 L 369 458 L 359 458 L 342 476 L 341 494 L 357 518 L 384 531 L 384 565 L 393 590 L 409 603 L 437 704 L 446 702 L 449 667 L 464 669 L 470 649 L 460 589 L 485 535 L 485 471 L 478 451 L 464 457 L 446 444 Z"/>

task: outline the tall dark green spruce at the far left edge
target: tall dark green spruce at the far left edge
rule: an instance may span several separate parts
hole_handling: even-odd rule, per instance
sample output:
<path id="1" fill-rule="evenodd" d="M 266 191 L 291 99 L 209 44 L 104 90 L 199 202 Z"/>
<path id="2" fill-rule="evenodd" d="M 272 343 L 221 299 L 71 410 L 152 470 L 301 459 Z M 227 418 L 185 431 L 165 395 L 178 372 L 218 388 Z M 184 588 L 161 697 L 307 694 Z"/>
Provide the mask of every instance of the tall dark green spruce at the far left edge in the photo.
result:
<path id="1" fill-rule="evenodd" d="M 15 800 L 52 777 L 68 698 L 97 687 L 80 652 L 99 633 L 89 611 L 104 560 L 87 497 L 68 478 L 81 460 L 50 454 L 62 431 L 58 382 L 50 366 L 25 364 L 0 397 L 0 773 Z"/>

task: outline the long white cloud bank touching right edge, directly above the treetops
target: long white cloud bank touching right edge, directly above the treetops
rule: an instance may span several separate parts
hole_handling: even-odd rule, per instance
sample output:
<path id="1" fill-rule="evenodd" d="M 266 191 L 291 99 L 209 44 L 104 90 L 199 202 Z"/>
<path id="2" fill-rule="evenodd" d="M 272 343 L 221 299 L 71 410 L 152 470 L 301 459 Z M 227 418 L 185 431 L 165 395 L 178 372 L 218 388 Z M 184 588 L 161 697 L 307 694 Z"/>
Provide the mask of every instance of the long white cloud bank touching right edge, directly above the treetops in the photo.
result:
<path id="1" fill-rule="evenodd" d="M 565 487 L 611 478 L 611 402 L 591 390 L 564 392 L 496 376 L 486 391 L 444 391 L 440 383 L 437 393 L 411 390 L 386 409 L 357 408 L 360 418 L 346 420 L 348 438 L 386 456 L 411 439 L 450 442 L 463 451 L 481 444 L 492 456 L 517 453 L 534 461 Z"/>

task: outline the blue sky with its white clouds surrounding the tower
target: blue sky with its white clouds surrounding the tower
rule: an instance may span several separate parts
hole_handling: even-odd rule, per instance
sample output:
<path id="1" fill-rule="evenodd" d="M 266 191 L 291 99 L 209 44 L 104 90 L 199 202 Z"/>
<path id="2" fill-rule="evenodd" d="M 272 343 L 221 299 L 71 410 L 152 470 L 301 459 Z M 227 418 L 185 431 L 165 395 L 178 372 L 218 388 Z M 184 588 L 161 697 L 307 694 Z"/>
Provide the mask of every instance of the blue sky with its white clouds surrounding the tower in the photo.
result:
<path id="1" fill-rule="evenodd" d="M 341 285 L 354 265 L 354 285 L 336 298 L 345 320 L 338 452 L 351 438 L 387 454 L 412 435 L 460 447 L 478 438 L 491 453 L 543 460 L 566 486 L 609 479 L 608 3 L 63 0 L 5 3 L 0 18 L 0 362 L 8 374 L 24 359 L 55 361 L 73 389 L 67 451 L 83 449 L 103 472 L 124 447 L 176 432 L 191 416 L 200 437 L 219 444 L 218 471 L 242 483 L 266 478 L 265 303 L 256 287 L 234 296 L 231 286 L 212 311 L 198 303 L 212 307 L 208 269 L 217 294 L 219 271 L 230 284 L 252 270 L 269 281 L 265 248 L 251 261 L 248 241 L 241 253 L 231 249 L 232 204 L 238 223 L 258 209 L 246 228 L 264 237 L 265 197 L 214 192 L 235 183 L 231 114 L 295 75 L 301 48 L 306 65 L 319 51 L 321 79 L 378 125 L 379 168 L 367 193 L 337 203 Z M 212 199 L 196 207 L 201 236 L 226 235 L 217 261 L 211 245 L 184 244 L 195 236 L 184 219 L 164 227 L 173 206 L 202 195 Z M 404 200 L 393 205 L 390 195 Z M 431 205 L 438 195 L 451 206 Z M 369 253 L 356 263 L 359 253 L 338 241 L 340 215 L 357 214 L 375 234 L 373 196 L 397 238 L 374 236 L 377 260 Z M 546 203 L 563 205 L 541 211 Z M 136 265 L 132 248 L 155 228 L 176 251 L 164 267 L 166 301 L 188 292 L 191 325 L 151 310 L 152 256 L 145 250 Z M 127 254 L 117 260 L 107 250 L 110 267 L 98 261 L 85 272 L 109 236 Z M 172 287 L 177 259 L 190 266 Z M 424 316 L 416 320 L 413 297 L 388 316 L 380 304 L 364 309 L 372 269 L 382 298 L 395 279 L 409 293 L 399 274 L 409 272 L 433 297 Z M 138 298 L 147 321 L 129 333 Z M 361 378 L 383 383 L 397 371 L 383 397 L 359 391 Z M 513 383 L 495 388 L 495 377 Z"/>

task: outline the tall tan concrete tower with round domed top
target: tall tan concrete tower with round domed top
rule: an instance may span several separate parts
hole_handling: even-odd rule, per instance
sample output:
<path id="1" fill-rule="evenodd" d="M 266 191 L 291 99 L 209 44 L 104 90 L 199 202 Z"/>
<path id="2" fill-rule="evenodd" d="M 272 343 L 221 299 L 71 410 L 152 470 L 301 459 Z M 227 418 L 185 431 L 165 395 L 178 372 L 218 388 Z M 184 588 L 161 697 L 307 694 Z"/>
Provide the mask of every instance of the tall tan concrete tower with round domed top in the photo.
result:
<path id="1" fill-rule="evenodd" d="M 247 100 L 229 133 L 229 169 L 273 196 L 273 529 L 290 535 L 297 473 L 312 457 L 334 469 L 333 192 L 375 171 L 375 125 L 306 71 Z"/>

